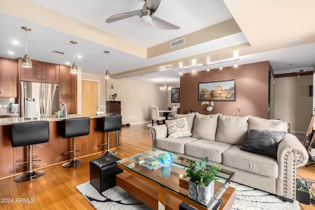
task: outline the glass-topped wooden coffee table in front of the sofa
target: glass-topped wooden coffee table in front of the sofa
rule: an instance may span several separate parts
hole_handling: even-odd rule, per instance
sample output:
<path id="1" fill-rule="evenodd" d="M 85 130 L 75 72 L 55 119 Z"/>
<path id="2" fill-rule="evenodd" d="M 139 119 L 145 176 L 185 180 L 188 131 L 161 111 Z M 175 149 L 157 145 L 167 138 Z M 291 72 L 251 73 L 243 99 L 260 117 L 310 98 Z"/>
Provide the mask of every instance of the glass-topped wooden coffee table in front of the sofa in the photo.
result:
<path id="1" fill-rule="evenodd" d="M 208 204 L 189 197 L 189 179 L 183 179 L 185 168 L 183 157 L 175 156 L 173 164 L 151 170 L 142 167 L 144 158 L 155 157 L 161 150 L 149 150 L 117 161 L 117 167 L 125 172 L 116 176 L 116 184 L 151 209 L 179 209 L 191 206 L 198 210 L 230 209 L 235 201 L 235 189 L 228 186 L 234 172 L 221 169 L 215 180 L 214 197 Z"/>

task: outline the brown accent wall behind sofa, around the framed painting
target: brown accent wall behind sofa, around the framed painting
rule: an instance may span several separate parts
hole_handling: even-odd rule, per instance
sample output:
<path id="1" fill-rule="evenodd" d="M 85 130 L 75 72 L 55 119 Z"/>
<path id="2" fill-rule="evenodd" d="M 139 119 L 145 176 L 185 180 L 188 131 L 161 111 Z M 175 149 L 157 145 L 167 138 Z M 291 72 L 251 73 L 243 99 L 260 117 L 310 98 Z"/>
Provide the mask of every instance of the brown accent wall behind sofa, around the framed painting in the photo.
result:
<path id="1" fill-rule="evenodd" d="M 252 115 L 268 119 L 269 61 L 198 71 L 181 75 L 181 113 L 189 110 L 207 114 L 198 101 L 198 82 L 236 79 L 236 101 L 215 101 L 211 114 L 232 115 L 240 106 L 240 116 Z"/>

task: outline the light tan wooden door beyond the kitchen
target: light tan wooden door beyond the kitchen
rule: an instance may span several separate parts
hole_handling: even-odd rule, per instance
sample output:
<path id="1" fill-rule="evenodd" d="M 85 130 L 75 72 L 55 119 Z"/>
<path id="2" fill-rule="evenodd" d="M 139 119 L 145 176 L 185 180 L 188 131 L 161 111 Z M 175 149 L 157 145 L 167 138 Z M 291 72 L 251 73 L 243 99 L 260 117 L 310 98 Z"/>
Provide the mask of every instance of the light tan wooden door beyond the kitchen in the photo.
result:
<path id="1" fill-rule="evenodd" d="M 82 80 L 82 115 L 95 115 L 98 111 L 98 82 Z"/>

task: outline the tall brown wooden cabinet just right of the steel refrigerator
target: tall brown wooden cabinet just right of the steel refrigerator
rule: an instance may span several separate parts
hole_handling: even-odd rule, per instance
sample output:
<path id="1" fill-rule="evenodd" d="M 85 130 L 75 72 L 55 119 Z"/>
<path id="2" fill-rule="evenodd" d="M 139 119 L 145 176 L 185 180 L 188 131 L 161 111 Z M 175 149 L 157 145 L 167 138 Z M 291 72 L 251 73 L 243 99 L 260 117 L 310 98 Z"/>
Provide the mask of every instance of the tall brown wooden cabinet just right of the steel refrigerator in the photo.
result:
<path id="1" fill-rule="evenodd" d="M 77 114 L 77 74 L 70 73 L 70 66 L 60 65 L 60 107 L 67 106 L 68 115 Z"/>

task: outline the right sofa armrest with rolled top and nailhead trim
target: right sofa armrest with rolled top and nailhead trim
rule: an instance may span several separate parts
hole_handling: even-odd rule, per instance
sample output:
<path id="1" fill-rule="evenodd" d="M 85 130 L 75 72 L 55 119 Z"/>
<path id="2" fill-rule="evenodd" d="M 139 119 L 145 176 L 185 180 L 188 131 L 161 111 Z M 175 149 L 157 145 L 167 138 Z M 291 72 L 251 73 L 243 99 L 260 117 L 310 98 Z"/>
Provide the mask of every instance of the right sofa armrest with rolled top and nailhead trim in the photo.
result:
<path id="1" fill-rule="evenodd" d="M 288 133 L 278 146 L 277 160 L 279 174 L 276 193 L 295 200 L 296 168 L 308 162 L 308 153 L 301 142 Z"/>

